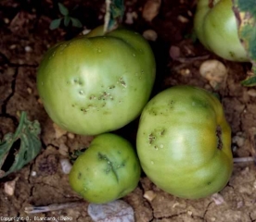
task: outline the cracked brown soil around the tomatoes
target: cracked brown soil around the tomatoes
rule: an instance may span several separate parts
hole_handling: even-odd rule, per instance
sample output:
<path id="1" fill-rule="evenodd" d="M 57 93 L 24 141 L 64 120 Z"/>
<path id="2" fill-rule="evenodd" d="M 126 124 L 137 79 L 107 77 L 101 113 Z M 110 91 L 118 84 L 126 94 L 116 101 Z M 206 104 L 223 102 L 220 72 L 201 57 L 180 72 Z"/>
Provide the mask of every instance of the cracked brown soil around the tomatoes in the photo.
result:
<path id="1" fill-rule="evenodd" d="M 195 1 L 163 0 L 160 12 L 152 21 L 142 18 L 145 0 L 127 0 L 126 15 L 137 18 L 124 24 L 143 33 L 154 30 L 156 41 L 150 41 L 158 64 L 158 77 L 154 93 L 177 85 L 190 84 L 219 93 L 225 114 L 232 128 L 232 149 L 236 157 L 252 156 L 255 151 L 256 91 L 244 88 L 250 64 L 228 62 L 212 55 L 193 40 L 193 14 Z M 103 23 L 104 0 L 64 1 L 72 8 L 83 29 L 93 29 Z M 127 14 L 128 13 L 128 14 Z M 42 126 L 42 152 L 19 172 L 0 179 L 0 216 L 29 216 L 24 208 L 29 205 L 48 205 L 81 200 L 70 190 L 67 175 L 63 174 L 59 160 L 67 152 L 86 147 L 92 137 L 77 136 L 56 129 L 46 115 L 36 90 L 36 68 L 47 48 L 58 41 L 70 39 L 83 29 L 65 28 L 50 31 L 52 19 L 58 18 L 57 1 L 54 0 L 4 0 L 0 2 L 0 138 L 17 127 L 19 112 L 25 110 L 30 119 L 38 119 Z M 170 56 L 171 47 L 179 49 L 176 59 Z M 228 77 L 218 90 L 211 88 L 208 80 L 198 72 L 201 63 L 216 58 L 228 68 Z M 132 124 L 133 126 L 136 123 Z M 133 127 L 132 126 L 132 127 Z M 128 126 L 129 128 L 131 126 Z M 129 130 L 122 129 L 122 133 Z M 134 135 L 124 134 L 134 140 Z M 4 185 L 17 179 L 13 195 L 7 195 Z M 144 194 L 153 191 L 156 197 L 148 201 Z M 256 221 L 256 167 L 253 163 L 235 164 L 228 185 L 218 195 L 190 201 L 176 198 L 160 191 L 146 176 L 137 188 L 123 198 L 134 207 L 138 222 L 168 221 Z M 36 216 L 71 216 L 72 221 L 92 221 L 87 215 L 88 203 L 52 211 Z M 34 215 L 30 219 L 35 220 Z M 3 217 L 2 217 L 3 218 Z M 1 217 L 0 217 L 0 220 Z"/>

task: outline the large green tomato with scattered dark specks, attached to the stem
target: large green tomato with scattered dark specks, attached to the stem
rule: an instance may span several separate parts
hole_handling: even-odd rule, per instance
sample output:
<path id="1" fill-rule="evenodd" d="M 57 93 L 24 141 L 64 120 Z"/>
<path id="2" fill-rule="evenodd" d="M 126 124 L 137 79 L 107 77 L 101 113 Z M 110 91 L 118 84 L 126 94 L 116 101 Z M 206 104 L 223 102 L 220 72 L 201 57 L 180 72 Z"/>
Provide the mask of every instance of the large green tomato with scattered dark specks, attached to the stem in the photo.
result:
<path id="1" fill-rule="evenodd" d="M 49 117 L 62 129 L 96 135 L 120 129 L 141 113 L 155 80 L 147 41 L 102 27 L 58 43 L 38 68 L 37 88 Z"/>

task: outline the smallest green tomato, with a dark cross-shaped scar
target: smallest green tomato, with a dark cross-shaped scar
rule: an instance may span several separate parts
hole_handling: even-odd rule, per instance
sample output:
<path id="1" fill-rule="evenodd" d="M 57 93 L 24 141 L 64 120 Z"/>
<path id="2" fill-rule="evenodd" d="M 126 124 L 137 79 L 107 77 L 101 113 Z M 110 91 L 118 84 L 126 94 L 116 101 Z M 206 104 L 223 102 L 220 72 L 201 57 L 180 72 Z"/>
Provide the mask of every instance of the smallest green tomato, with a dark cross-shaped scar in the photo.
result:
<path id="1" fill-rule="evenodd" d="M 108 203 L 134 191 L 141 167 L 130 142 L 101 134 L 74 162 L 70 187 L 90 203 Z"/>

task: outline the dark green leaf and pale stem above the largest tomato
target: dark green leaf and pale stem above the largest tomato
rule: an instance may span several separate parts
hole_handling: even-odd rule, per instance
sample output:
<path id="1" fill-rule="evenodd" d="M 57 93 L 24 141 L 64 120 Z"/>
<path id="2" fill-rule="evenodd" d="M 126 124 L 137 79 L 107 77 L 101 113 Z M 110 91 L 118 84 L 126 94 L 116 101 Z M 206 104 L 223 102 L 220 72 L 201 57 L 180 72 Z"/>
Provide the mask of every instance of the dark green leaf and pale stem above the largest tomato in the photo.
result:
<path id="1" fill-rule="evenodd" d="M 123 0 L 106 0 L 104 32 L 109 32 L 116 29 L 122 22 L 123 15 Z"/>

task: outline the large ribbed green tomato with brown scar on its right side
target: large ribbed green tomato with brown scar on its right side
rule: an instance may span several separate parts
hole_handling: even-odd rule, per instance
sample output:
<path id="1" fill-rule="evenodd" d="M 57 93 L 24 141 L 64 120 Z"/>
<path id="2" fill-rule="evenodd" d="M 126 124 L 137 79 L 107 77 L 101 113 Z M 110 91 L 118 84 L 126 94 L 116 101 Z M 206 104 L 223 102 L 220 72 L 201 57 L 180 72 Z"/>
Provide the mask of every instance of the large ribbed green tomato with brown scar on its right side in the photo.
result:
<path id="1" fill-rule="evenodd" d="M 142 112 L 136 143 L 147 177 L 175 196 L 206 197 L 230 179 L 231 129 L 205 90 L 175 86 L 157 94 Z"/>

